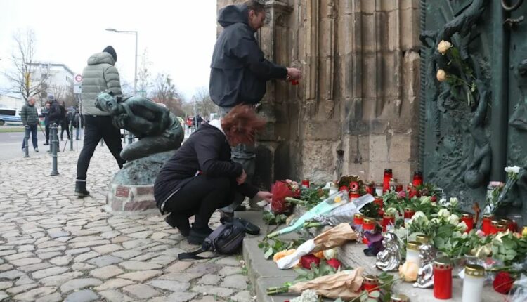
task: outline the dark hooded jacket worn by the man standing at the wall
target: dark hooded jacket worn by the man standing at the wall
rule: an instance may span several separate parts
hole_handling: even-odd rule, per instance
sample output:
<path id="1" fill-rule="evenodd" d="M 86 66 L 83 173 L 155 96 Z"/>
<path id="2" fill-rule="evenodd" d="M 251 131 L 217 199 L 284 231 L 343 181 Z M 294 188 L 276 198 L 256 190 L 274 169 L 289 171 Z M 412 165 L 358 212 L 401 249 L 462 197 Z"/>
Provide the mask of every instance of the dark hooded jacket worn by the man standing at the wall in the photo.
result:
<path id="1" fill-rule="evenodd" d="M 223 32 L 214 45 L 209 91 L 220 107 L 259 103 L 266 93 L 266 81 L 287 77 L 285 67 L 263 58 L 247 18 L 243 4 L 219 11 Z"/>

